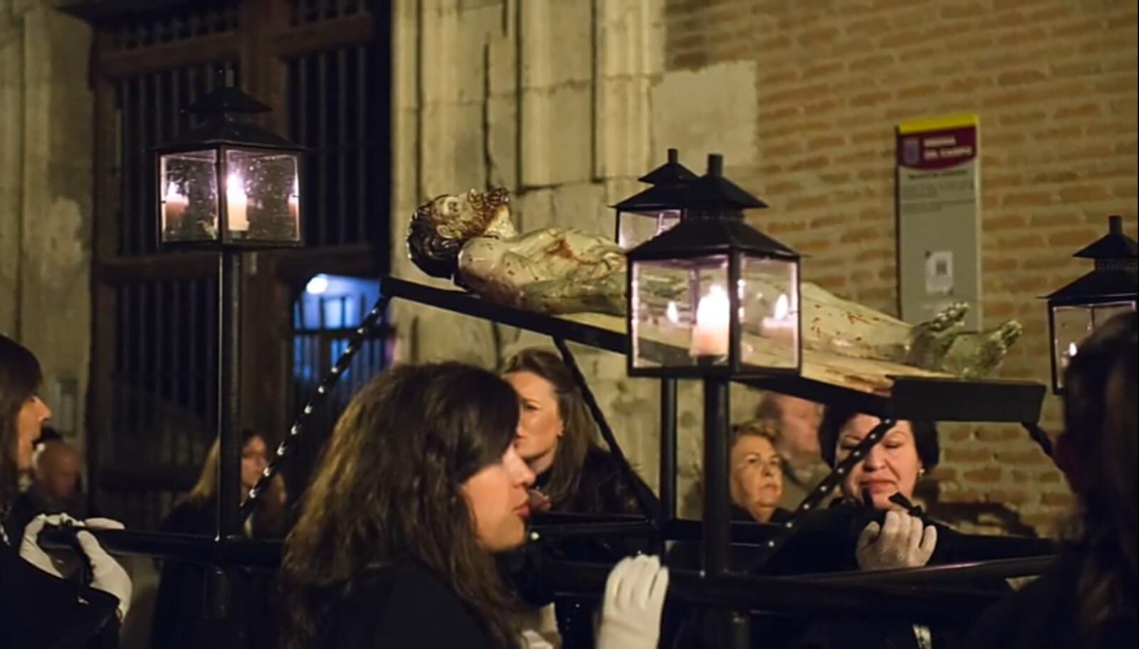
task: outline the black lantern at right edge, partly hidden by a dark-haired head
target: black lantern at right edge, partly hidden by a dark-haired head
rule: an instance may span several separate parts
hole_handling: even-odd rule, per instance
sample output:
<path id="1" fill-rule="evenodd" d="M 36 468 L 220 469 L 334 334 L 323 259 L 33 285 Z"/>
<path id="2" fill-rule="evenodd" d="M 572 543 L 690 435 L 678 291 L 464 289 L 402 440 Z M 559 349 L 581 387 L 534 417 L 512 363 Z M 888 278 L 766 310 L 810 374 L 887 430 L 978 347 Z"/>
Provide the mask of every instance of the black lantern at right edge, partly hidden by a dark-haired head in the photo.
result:
<path id="1" fill-rule="evenodd" d="M 1123 217 L 1108 218 L 1108 233 L 1073 257 L 1091 259 L 1087 275 L 1048 296 L 1052 341 L 1052 391 L 1064 392 L 1064 371 L 1082 341 L 1112 316 L 1136 310 L 1136 241 L 1123 234 Z"/>

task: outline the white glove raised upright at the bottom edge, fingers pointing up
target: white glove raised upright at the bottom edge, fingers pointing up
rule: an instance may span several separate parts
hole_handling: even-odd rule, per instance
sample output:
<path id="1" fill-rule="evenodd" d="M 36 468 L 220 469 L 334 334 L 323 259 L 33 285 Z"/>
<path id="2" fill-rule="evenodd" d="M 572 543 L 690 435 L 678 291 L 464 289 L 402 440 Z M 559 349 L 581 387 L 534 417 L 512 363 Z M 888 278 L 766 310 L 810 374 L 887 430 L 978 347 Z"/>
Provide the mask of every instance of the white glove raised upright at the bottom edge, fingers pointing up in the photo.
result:
<path id="1" fill-rule="evenodd" d="M 625 557 L 605 582 L 597 649 L 656 649 L 669 568 L 656 557 Z"/>

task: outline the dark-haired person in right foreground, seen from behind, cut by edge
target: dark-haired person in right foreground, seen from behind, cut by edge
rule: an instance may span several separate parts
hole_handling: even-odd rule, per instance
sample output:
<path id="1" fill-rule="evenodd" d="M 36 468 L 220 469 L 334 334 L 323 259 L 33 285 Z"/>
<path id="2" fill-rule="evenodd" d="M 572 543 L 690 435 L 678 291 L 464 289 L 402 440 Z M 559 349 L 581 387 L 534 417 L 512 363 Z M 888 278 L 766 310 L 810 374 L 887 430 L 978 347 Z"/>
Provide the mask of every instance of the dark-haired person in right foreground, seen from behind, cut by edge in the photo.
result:
<path id="1" fill-rule="evenodd" d="M 1139 326 L 1100 325 L 1064 373 L 1056 457 L 1076 511 L 1056 566 L 990 610 L 970 647 L 1139 646 Z"/>

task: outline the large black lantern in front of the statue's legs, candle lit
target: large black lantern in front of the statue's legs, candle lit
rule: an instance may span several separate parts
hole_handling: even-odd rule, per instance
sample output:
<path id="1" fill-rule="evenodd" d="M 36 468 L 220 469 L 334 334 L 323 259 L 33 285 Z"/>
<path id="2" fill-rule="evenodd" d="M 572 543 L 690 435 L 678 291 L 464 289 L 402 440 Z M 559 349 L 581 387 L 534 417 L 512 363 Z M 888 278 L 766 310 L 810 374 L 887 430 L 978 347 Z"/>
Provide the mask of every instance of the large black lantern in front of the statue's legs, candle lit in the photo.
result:
<path id="1" fill-rule="evenodd" d="M 800 256 L 744 222 L 767 203 L 723 177 L 688 184 L 688 214 L 629 251 L 629 374 L 747 376 L 802 366 Z"/>

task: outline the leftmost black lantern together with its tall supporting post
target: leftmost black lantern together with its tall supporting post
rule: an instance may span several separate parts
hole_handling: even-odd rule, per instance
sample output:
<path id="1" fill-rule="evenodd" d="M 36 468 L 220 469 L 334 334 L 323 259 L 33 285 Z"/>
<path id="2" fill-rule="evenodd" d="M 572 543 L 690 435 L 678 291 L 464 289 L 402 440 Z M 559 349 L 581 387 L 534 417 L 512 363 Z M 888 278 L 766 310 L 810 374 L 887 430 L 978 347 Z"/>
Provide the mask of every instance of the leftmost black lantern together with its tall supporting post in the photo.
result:
<path id="1" fill-rule="evenodd" d="M 155 149 L 158 243 L 166 250 L 218 251 L 218 539 L 240 535 L 241 252 L 298 247 L 301 152 L 251 116 L 269 107 L 221 86 L 186 109 L 204 122 Z"/>

